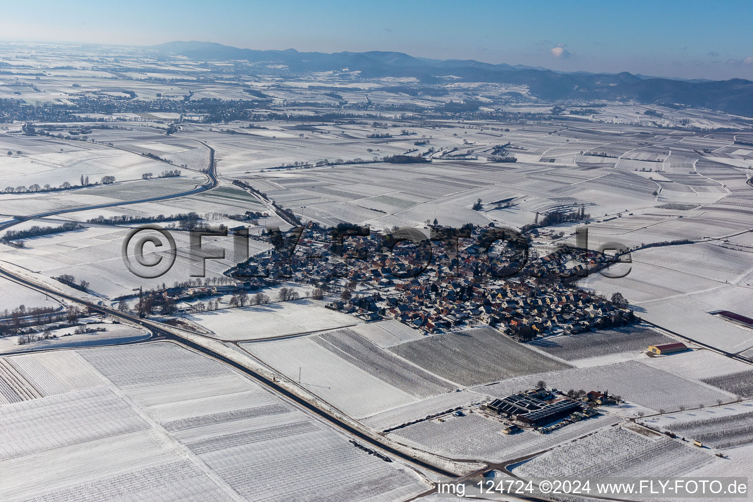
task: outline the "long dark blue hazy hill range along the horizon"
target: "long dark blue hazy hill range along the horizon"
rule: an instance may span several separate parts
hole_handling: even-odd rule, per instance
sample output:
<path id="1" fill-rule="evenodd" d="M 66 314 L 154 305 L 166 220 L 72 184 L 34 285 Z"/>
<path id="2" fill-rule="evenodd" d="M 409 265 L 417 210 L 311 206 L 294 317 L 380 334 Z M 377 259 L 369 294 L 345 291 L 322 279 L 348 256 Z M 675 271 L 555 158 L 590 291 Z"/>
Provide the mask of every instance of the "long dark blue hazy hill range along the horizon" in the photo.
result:
<path id="1" fill-rule="evenodd" d="M 681 104 L 713 108 L 753 117 L 753 81 L 685 81 L 652 78 L 626 71 L 613 74 L 566 73 L 523 65 L 498 65 L 473 59 L 427 59 L 400 52 L 363 53 L 298 52 L 287 50 L 239 49 L 200 41 L 173 41 L 149 47 L 164 53 L 178 53 L 191 59 L 243 59 L 275 62 L 294 72 L 361 71 L 365 78 L 413 77 L 425 84 L 437 84 L 452 75 L 455 81 L 524 84 L 531 93 L 549 101 L 561 99 L 635 100 L 643 103 Z"/>

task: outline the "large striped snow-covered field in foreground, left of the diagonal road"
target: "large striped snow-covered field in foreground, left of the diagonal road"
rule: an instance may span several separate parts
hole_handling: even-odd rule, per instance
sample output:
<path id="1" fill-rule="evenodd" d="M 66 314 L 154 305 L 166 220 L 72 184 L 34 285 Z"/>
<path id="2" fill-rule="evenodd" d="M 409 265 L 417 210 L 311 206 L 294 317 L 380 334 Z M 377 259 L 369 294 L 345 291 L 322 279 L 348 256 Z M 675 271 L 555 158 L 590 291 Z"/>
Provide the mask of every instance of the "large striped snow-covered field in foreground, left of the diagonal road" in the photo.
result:
<path id="1" fill-rule="evenodd" d="M 8 361 L 35 388 L 50 386 L 38 368 L 56 365 L 60 388 L 0 404 L 8 425 L 0 431 L 2 500 L 66 502 L 85 493 L 87 500 L 314 501 L 326 493 L 376 502 L 428 489 L 410 467 L 368 455 L 340 431 L 178 345 L 27 354 L 0 364 Z M 352 470 L 358 476 L 343 476 Z M 282 471 L 297 482 L 279 482 Z"/>

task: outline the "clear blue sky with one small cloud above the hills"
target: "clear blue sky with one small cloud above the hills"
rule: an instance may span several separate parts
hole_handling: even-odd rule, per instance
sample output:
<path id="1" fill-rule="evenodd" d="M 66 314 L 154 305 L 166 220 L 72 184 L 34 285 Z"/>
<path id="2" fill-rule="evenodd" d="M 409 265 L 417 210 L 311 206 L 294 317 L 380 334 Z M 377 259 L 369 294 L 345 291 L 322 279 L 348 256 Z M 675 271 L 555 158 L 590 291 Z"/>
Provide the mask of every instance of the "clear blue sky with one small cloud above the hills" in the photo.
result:
<path id="1" fill-rule="evenodd" d="M 562 71 L 753 79 L 749 2 L 8 2 L 3 40 L 395 50 Z"/>

